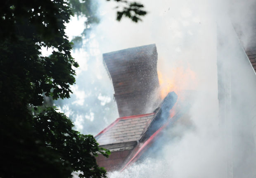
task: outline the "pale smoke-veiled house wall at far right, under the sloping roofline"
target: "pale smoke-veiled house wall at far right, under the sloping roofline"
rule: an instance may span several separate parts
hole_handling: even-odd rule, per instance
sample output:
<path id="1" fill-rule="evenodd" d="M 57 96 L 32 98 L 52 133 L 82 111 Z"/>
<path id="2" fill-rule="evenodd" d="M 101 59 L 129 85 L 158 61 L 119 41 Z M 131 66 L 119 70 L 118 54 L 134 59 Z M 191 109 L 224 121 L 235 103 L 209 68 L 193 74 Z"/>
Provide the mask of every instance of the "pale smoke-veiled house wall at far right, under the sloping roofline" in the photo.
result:
<path id="1" fill-rule="evenodd" d="M 256 74 L 232 24 L 218 24 L 219 122 L 228 178 L 256 176 Z"/>

